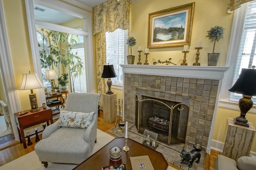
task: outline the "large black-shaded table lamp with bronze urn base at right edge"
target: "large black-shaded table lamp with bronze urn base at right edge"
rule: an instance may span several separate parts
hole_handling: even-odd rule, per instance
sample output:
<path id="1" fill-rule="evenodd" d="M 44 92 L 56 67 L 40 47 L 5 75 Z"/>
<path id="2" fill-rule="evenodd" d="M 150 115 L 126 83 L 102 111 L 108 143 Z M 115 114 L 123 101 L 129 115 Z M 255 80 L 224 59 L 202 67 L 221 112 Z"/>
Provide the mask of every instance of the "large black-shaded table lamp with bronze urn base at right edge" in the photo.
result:
<path id="1" fill-rule="evenodd" d="M 251 100 L 252 96 L 256 95 L 256 70 L 242 68 L 236 83 L 228 91 L 243 95 L 238 102 L 240 116 L 234 118 L 234 123 L 236 125 L 249 127 L 245 115 L 253 106 Z"/>

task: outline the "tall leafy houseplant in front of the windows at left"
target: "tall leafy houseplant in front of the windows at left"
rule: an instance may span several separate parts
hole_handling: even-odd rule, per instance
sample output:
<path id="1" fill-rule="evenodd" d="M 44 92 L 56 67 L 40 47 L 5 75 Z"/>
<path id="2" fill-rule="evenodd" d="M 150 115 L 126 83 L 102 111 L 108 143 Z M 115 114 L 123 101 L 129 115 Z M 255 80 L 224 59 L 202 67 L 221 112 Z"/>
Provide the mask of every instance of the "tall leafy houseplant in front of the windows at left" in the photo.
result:
<path id="1" fill-rule="evenodd" d="M 42 32 L 44 29 L 42 29 Z M 45 50 L 40 53 L 40 61 L 42 68 L 58 68 L 58 76 L 60 76 L 60 66 L 68 68 L 69 75 L 74 86 L 74 80 L 82 74 L 82 60 L 77 53 L 72 52 L 72 46 L 79 42 L 78 35 L 70 33 L 62 33 L 58 31 L 45 31 L 44 41 L 51 41 L 49 45 L 50 53 L 47 55 Z M 72 90 L 74 92 L 74 89 Z"/>

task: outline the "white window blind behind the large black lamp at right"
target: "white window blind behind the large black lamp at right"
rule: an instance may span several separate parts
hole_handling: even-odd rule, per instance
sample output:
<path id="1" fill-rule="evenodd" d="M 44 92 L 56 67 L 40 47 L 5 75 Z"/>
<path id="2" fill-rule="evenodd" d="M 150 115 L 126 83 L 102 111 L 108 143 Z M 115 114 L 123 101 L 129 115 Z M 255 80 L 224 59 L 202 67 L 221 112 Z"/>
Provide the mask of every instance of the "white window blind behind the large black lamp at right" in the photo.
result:
<path id="1" fill-rule="evenodd" d="M 242 33 L 242 39 L 240 40 L 240 47 L 238 51 L 238 57 L 236 61 L 236 68 L 234 72 L 234 79 L 232 85 L 238 79 L 238 76 L 242 68 L 252 68 L 256 65 L 256 1 L 248 3 L 246 11 L 246 17 L 244 22 L 244 29 Z M 238 101 L 241 98 L 241 94 L 231 92 L 230 101 Z M 256 104 L 256 98 L 252 98 L 254 104 Z"/>

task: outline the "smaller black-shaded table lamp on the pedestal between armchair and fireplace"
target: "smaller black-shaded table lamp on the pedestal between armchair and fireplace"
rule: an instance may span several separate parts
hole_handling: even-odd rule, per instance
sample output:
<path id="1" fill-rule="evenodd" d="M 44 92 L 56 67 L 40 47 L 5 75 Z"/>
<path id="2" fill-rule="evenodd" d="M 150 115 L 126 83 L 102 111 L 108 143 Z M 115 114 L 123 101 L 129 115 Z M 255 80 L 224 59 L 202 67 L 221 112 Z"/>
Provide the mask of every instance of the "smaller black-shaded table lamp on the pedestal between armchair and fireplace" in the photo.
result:
<path id="1" fill-rule="evenodd" d="M 104 65 L 103 68 L 103 73 L 102 73 L 102 78 L 108 78 L 107 80 L 107 85 L 108 85 L 108 92 L 106 92 L 106 94 L 114 94 L 111 91 L 111 85 L 112 85 L 112 80 L 111 78 L 116 77 L 116 72 L 114 70 L 114 66 L 113 65 Z"/>

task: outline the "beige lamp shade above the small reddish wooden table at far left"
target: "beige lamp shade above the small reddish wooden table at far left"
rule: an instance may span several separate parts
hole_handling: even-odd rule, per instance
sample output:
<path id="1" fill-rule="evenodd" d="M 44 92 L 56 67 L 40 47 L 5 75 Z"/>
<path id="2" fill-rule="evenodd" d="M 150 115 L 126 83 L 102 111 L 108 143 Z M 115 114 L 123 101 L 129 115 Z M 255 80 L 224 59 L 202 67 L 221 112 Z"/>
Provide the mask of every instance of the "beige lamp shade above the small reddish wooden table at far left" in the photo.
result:
<path id="1" fill-rule="evenodd" d="M 38 78 L 36 73 L 23 73 L 22 82 L 19 90 L 31 90 L 35 88 L 44 88 L 44 84 Z"/>

